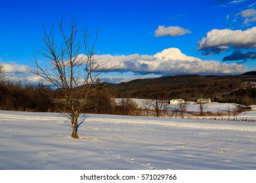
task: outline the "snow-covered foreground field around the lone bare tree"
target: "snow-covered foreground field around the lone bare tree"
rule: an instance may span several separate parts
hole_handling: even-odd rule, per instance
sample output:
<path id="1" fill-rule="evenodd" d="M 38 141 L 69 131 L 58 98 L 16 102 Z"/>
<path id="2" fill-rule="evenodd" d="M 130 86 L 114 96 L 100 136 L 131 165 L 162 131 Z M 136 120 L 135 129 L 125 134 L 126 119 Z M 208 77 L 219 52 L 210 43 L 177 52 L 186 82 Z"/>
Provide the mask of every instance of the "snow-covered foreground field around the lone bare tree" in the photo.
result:
<path id="1" fill-rule="evenodd" d="M 256 122 L 86 116 L 0 111 L 0 169 L 256 169 Z"/>

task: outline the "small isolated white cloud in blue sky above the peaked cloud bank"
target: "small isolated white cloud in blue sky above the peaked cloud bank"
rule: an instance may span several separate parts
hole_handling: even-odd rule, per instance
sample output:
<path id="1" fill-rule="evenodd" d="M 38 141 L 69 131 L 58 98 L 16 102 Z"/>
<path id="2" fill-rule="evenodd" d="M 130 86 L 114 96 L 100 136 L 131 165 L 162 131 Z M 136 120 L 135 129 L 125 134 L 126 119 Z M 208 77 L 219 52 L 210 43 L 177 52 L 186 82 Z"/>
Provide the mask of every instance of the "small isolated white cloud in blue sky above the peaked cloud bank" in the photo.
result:
<path id="1" fill-rule="evenodd" d="M 162 37 L 162 36 L 168 36 L 168 37 L 176 37 L 176 36 L 181 36 L 181 35 L 186 35 L 188 33 L 191 33 L 190 30 L 184 29 L 182 27 L 178 26 L 169 26 L 165 27 L 164 25 L 158 26 L 158 29 L 155 31 L 155 36 L 156 37 Z"/>

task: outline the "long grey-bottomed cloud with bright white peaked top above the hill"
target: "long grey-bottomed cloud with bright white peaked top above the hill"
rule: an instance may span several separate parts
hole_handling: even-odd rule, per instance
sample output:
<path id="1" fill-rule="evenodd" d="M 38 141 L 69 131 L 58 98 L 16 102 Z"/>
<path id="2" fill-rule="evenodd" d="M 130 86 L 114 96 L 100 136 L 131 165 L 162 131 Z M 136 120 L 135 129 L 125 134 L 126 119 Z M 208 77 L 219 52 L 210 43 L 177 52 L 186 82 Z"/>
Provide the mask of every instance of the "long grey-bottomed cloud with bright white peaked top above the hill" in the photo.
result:
<path id="1" fill-rule="evenodd" d="M 129 56 L 101 55 L 102 59 L 110 59 L 112 69 L 117 72 L 132 71 L 136 74 L 177 75 L 177 74 L 230 74 L 247 71 L 243 65 L 226 64 L 219 61 L 203 61 L 202 59 L 182 54 L 179 48 L 168 48 L 153 56 L 133 54 Z"/>

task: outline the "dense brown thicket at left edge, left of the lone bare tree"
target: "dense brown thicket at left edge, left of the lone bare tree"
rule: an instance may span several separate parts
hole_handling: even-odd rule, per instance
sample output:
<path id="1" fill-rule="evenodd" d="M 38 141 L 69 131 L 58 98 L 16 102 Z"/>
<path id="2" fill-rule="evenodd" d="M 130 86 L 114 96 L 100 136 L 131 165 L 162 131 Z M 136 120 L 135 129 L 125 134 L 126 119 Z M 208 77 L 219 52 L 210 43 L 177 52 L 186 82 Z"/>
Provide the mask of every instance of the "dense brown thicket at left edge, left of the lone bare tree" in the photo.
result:
<path id="1" fill-rule="evenodd" d="M 21 82 L 8 81 L 0 84 L 0 109 L 30 112 L 56 112 L 49 87 L 38 84 L 32 86 Z"/>

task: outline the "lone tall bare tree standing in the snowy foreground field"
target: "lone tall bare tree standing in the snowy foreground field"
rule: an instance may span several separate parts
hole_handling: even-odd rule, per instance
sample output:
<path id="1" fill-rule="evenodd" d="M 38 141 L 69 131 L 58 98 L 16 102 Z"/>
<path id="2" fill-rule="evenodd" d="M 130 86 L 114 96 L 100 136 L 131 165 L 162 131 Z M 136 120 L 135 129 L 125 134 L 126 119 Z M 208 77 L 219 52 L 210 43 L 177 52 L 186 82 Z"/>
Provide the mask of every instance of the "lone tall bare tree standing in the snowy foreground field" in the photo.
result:
<path id="1" fill-rule="evenodd" d="M 54 35 L 54 25 L 47 32 L 43 24 L 44 46 L 38 53 L 47 58 L 47 61 L 45 65 L 42 65 L 37 59 L 34 59 L 33 67 L 27 67 L 28 72 L 41 76 L 60 89 L 63 98 L 54 99 L 54 101 L 61 103 L 66 110 L 63 114 L 71 122 L 70 126 L 73 129 L 71 137 L 75 139 L 79 138 L 77 129 L 85 120 L 82 119 L 81 122 L 78 122 L 81 111 L 87 106 L 87 96 L 92 90 L 95 90 L 96 79 L 109 61 L 96 58 L 95 44 L 98 31 L 90 44 L 89 29 L 79 28 L 79 22 L 80 20 L 77 18 L 72 18 L 68 29 L 66 29 L 63 18 L 58 21 L 57 33 L 61 41 Z M 83 41 L 78 39 L 80 33 Z"/>

